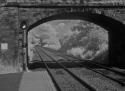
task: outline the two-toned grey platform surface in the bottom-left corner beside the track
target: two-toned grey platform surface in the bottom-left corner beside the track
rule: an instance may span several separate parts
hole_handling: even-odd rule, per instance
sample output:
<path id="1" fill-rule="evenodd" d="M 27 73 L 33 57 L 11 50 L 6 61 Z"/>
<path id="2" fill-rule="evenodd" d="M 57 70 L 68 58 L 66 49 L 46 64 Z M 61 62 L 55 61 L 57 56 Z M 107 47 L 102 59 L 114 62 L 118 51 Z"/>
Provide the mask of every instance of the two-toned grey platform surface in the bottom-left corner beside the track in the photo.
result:
<path id="1" fill-rule="evenodd" d="M 0 75 L 0 91 L 56 91 L 46 71 Z"/>

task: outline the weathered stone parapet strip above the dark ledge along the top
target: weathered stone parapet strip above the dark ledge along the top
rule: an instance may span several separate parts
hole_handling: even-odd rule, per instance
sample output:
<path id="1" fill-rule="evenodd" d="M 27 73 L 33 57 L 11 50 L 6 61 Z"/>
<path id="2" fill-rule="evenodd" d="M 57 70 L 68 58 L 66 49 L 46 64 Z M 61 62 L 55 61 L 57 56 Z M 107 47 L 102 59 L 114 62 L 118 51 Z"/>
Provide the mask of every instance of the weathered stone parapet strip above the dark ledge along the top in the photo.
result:
<path id="1" fill-rule="evenodd" d="M 125 5 L 125 0 L 1 0 L 1 4 L 18 3 L 22 4 L 56 4 L 56 5 Z"/>

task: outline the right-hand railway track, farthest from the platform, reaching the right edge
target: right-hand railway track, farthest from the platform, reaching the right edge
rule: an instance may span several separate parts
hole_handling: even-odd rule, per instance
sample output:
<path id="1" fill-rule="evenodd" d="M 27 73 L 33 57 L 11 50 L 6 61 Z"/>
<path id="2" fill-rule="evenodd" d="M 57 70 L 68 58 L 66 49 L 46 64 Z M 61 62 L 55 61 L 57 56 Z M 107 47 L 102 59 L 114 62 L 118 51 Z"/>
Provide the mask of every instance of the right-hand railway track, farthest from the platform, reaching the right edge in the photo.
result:
<path id="1" fill-rule="evenodd" d="M 56 55 L 59 55 L 59 54 L 56 54 Z M 62 55 L 59 55 L 59 56 L 62 56 Z M 79 60 L 81 60 L 81 59 L 79 59 L 79 58 L 72 57 L 72 56 L 68 56 L 68 55 L 64 55 L 64 54 L 63 54 L 63 57 L 66 58 L 66 59 L 68 59 L 68 61 L 70 61 L 70 62 L 72 62 L 72 63 L 74 63 L 74 64 L 76 64 L 76 65 L 78 65 L 78 66 L 81 66 L 81 67 L 82 67 L 83 64 L 84 64 L 83 62 L 79 62 Z M 74 58 L 74 60 L 78 60 L 78 61 L 71 60 L 69 57 Z M 81 61 L 84 61 L 84 60 L 81 60 Z M 105 66 L 103 66 L 103 65 L 100 65 L 100 64 L 98 64 L 98 63 L 94 63 L 94 62 L 91 62 L 91 61 L 84 61 L 84 62 L 88 63 L 90 66 L 91 66 L 91 65 L 92 65 L 92 66 L 94 65 L 94 66 L 103 68 L 103 69 L 105 69 L 105 70 L 107 70 L 107 71 L 113 72 L 115 75 L 118 75 L 118 76 L 120 76 L 120 77 L 122 77 L 122 78 L 125 78 L 125 73 L 122 73 L 122 72 L 119 72 L 119 71 L 110 69 L 110 68 L 108 68 L 108 67 L 105 67 Z M 96 72 L 96 73 L 98 73 L 98 74 L 101 74 L 102 76 L 104 76 L 104 77 L 106 77 L 106 78 L 108 78 L 108 79 L 110 79 L 110 80 L 113 80 L 113 81 L 119 83 L 119 84 L 122 85 L 122 86 L 125 86 L 125 81 L 121 81 L 121 80 L 118 80 L 118 79 L 113 78 L 113 77 L 111 77 L 111 76 L 105 75 L 104 73 L 101 73 L 101 72 L 99 72 L 99 71 L 97 71 L 97 70 L 94 70 L 94 69 L 91 68 L 91 67 L 86 66 L 86 68 L 89 69 L 89 70 L 92 70 L 93 72 Z"/>

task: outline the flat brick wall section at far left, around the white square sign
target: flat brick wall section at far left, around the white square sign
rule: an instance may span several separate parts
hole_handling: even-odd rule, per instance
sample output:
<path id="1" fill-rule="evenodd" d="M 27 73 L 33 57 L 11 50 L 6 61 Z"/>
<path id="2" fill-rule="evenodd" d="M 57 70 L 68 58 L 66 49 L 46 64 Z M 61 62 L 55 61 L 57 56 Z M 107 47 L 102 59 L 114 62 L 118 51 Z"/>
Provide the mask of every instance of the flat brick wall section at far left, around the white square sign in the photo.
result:
<path id="1" fill-rule="evenodd" d="M 17 21 L 16 8 L 0 8 L 0 46 L 8 44 L 7 50 L 0 49 L 0 60 L 5 64 L 17 63 Z"/>

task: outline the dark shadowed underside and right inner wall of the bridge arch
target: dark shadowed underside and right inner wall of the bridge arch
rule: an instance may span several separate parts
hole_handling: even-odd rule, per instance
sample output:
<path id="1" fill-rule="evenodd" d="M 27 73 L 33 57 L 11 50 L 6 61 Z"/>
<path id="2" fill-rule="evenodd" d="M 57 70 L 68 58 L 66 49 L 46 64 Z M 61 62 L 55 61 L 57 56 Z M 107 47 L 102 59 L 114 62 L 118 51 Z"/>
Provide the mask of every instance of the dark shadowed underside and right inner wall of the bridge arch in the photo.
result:
<path id="1" fill-rule="evenodd" d="M 63 13 L 56 14 L 50 17 L 41 19 L 36 23 L 29 26 L 28 31 L 32 30 L 36 26 L 52 21 L 52 20 L 63 20 L 63 19 L 73 19 L 73 20 L 86 20 L 97 24 L 107 31 L 109 31 L 109 63 L 111 65 L 124 67 L 125 58 L 124 58 L 124 50 L 125 50 L 125 25 L 120 21 L 114 20 L 111 17 L 94 14 L 94 13 L 85 13 L 85 12 L 71 12 L 71 13 Z M 28 32 L 27 32 L 28 34 Z M 125 67 L 124 67 L 125 68 Z"/>

